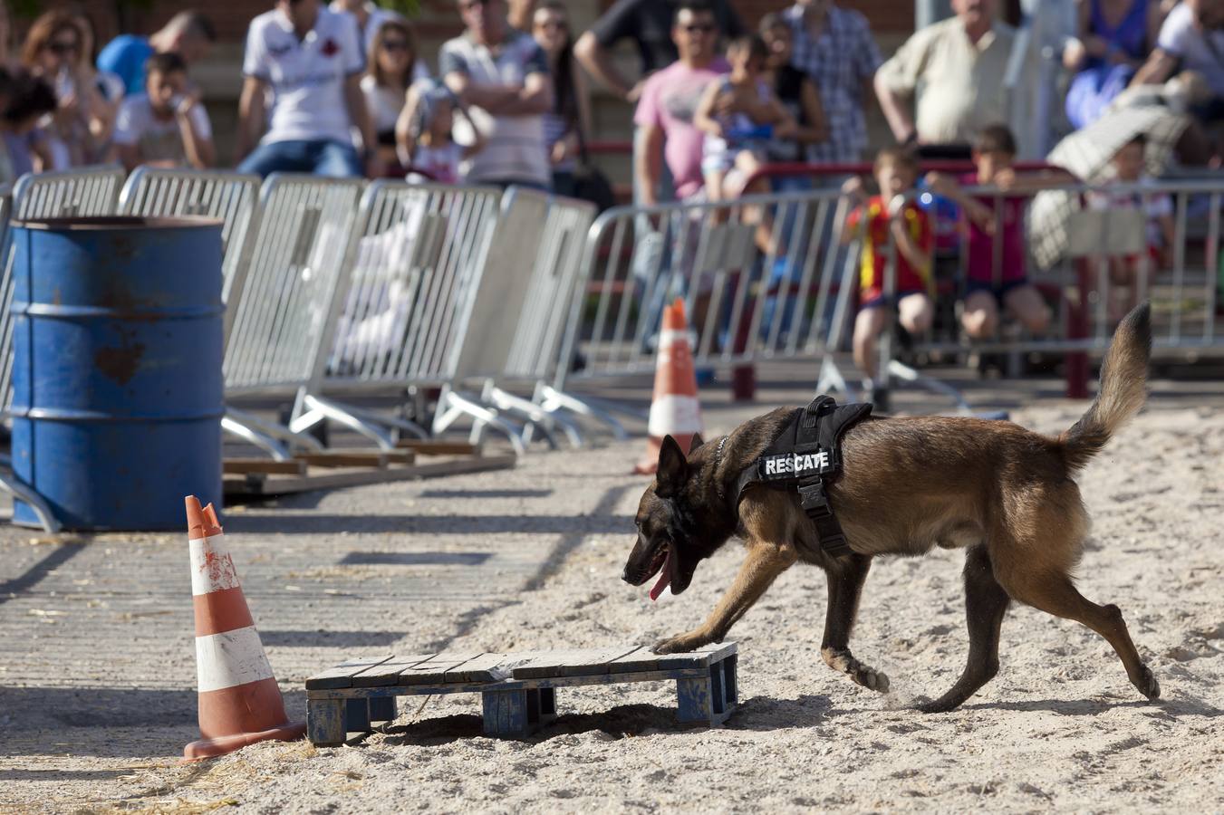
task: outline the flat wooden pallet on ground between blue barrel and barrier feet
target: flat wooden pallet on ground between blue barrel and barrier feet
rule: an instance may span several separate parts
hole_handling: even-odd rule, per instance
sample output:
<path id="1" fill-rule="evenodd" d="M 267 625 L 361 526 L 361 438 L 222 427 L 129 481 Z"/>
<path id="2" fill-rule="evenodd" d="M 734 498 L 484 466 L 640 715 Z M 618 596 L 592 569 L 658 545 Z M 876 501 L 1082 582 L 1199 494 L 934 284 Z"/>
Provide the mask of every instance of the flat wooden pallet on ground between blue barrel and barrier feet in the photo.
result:
<path id="1" fill-rule="evenodd" d="M 228 499 L 285 496 L 313 489 L 341 489 L 368 483 L 416 481 L 464 472 L 508 470 L 515 456 L 453 456 L 416 464 L 411 450 L 394 453 L 330 453 L 304 455 L 294 461 L 229 459 L 225 461 L 223 489 Z"/>

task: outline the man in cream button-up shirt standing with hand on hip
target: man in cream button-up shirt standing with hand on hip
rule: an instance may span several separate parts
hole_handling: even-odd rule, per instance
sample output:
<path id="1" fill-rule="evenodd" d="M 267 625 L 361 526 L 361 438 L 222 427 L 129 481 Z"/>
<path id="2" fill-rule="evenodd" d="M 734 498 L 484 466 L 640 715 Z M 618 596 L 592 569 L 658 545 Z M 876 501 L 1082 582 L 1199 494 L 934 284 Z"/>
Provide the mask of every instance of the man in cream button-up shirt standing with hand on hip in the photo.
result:
<path id="1" fill-rule="evenodd" d="M 1002 81 L 1015 31 L 996 0 L 952 0 L 955 17 L 913 33 L 875 75 L 875 93 L 897 142 L 944 146 L 966 158 L 982 128 L 1007 121 Z M 918 86 L 917 122 L 909 98 Z"/>

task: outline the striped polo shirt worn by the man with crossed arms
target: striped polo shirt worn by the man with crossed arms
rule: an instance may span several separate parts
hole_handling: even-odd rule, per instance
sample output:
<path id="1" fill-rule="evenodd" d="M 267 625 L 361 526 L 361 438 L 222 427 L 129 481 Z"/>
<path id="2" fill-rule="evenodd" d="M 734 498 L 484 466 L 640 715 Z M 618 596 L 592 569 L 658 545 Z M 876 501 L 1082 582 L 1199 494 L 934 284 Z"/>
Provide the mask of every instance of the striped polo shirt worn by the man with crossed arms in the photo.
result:
<path id="1" fill-rule="evenodd" d="M 442 47 L 438 75 L 450 73 L 465 75 L 480 84 L 521 84 L 532 73 L 547 75 L 548 60 L 536 42 L 519 31 L 509 29 L 496 53 L 465 33 Z M 466 180 L 545 186 L 552 181 L 543 116 L 498 116 L 475 105 L 468 113 L 488 142 L 464 163 Z"/>

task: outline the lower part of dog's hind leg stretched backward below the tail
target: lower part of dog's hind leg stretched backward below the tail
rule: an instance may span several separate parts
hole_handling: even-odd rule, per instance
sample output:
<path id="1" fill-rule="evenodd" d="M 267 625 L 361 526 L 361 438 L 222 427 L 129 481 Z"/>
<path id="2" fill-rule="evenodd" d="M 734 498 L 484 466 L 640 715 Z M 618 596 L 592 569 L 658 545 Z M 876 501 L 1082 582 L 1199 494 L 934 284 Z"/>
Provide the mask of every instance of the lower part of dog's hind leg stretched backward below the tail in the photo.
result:
<path id="1" fill-rule="evenodd" d="M 1075 587 L 1071 578 L 1061 573 L 1013 573 L 1006 576 L 1004 587 L 1007 594 L 1022 603 L 1028 603 L 1055 617 L 1083 623 L 1100 634 L 1114 646 L 1114 651 L 1122 660 L 1131 684 L 1151 700 L 1160 698 L 1160 684 L 1152 675 L 1152 669 L 1143 664 L 1138 651 L 1135 650 L 1131 633 L 1126 629 L 1126 620 L 1122 619 L 1122 612 L 1118 606 L 1098 606 L 1089 601 Z"/>

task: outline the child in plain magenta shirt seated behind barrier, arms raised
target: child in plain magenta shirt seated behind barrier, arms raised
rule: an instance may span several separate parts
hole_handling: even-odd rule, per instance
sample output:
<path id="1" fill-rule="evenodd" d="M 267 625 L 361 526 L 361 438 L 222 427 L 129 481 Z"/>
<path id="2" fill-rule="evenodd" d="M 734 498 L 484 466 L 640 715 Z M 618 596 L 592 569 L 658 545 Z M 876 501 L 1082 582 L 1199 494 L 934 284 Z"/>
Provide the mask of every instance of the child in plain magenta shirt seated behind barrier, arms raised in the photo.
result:
<path id="1" fill-rule="evenodd" d="M 1024 193 L 1050 187 L 1062 176 L 1017 176 L 1015 162 L 1016 140 L 1011 131 L 1006 125 L 989 125 L 973 146 L 974 173 L 960 179 L 939 173 L 927 175 L 927 186 L 961 207 L 968 221 L 969 257 L 961 324 L 973 339 L 995 334 L 1000 310 L 1034 334 L 1044 333 L 1050 324 L 1049 306 L 1024 274 Z M 1009 195 L 999 199 L 996 212 L 993 196 L 969 196 L 962 185 L 995 186 Z"/>

